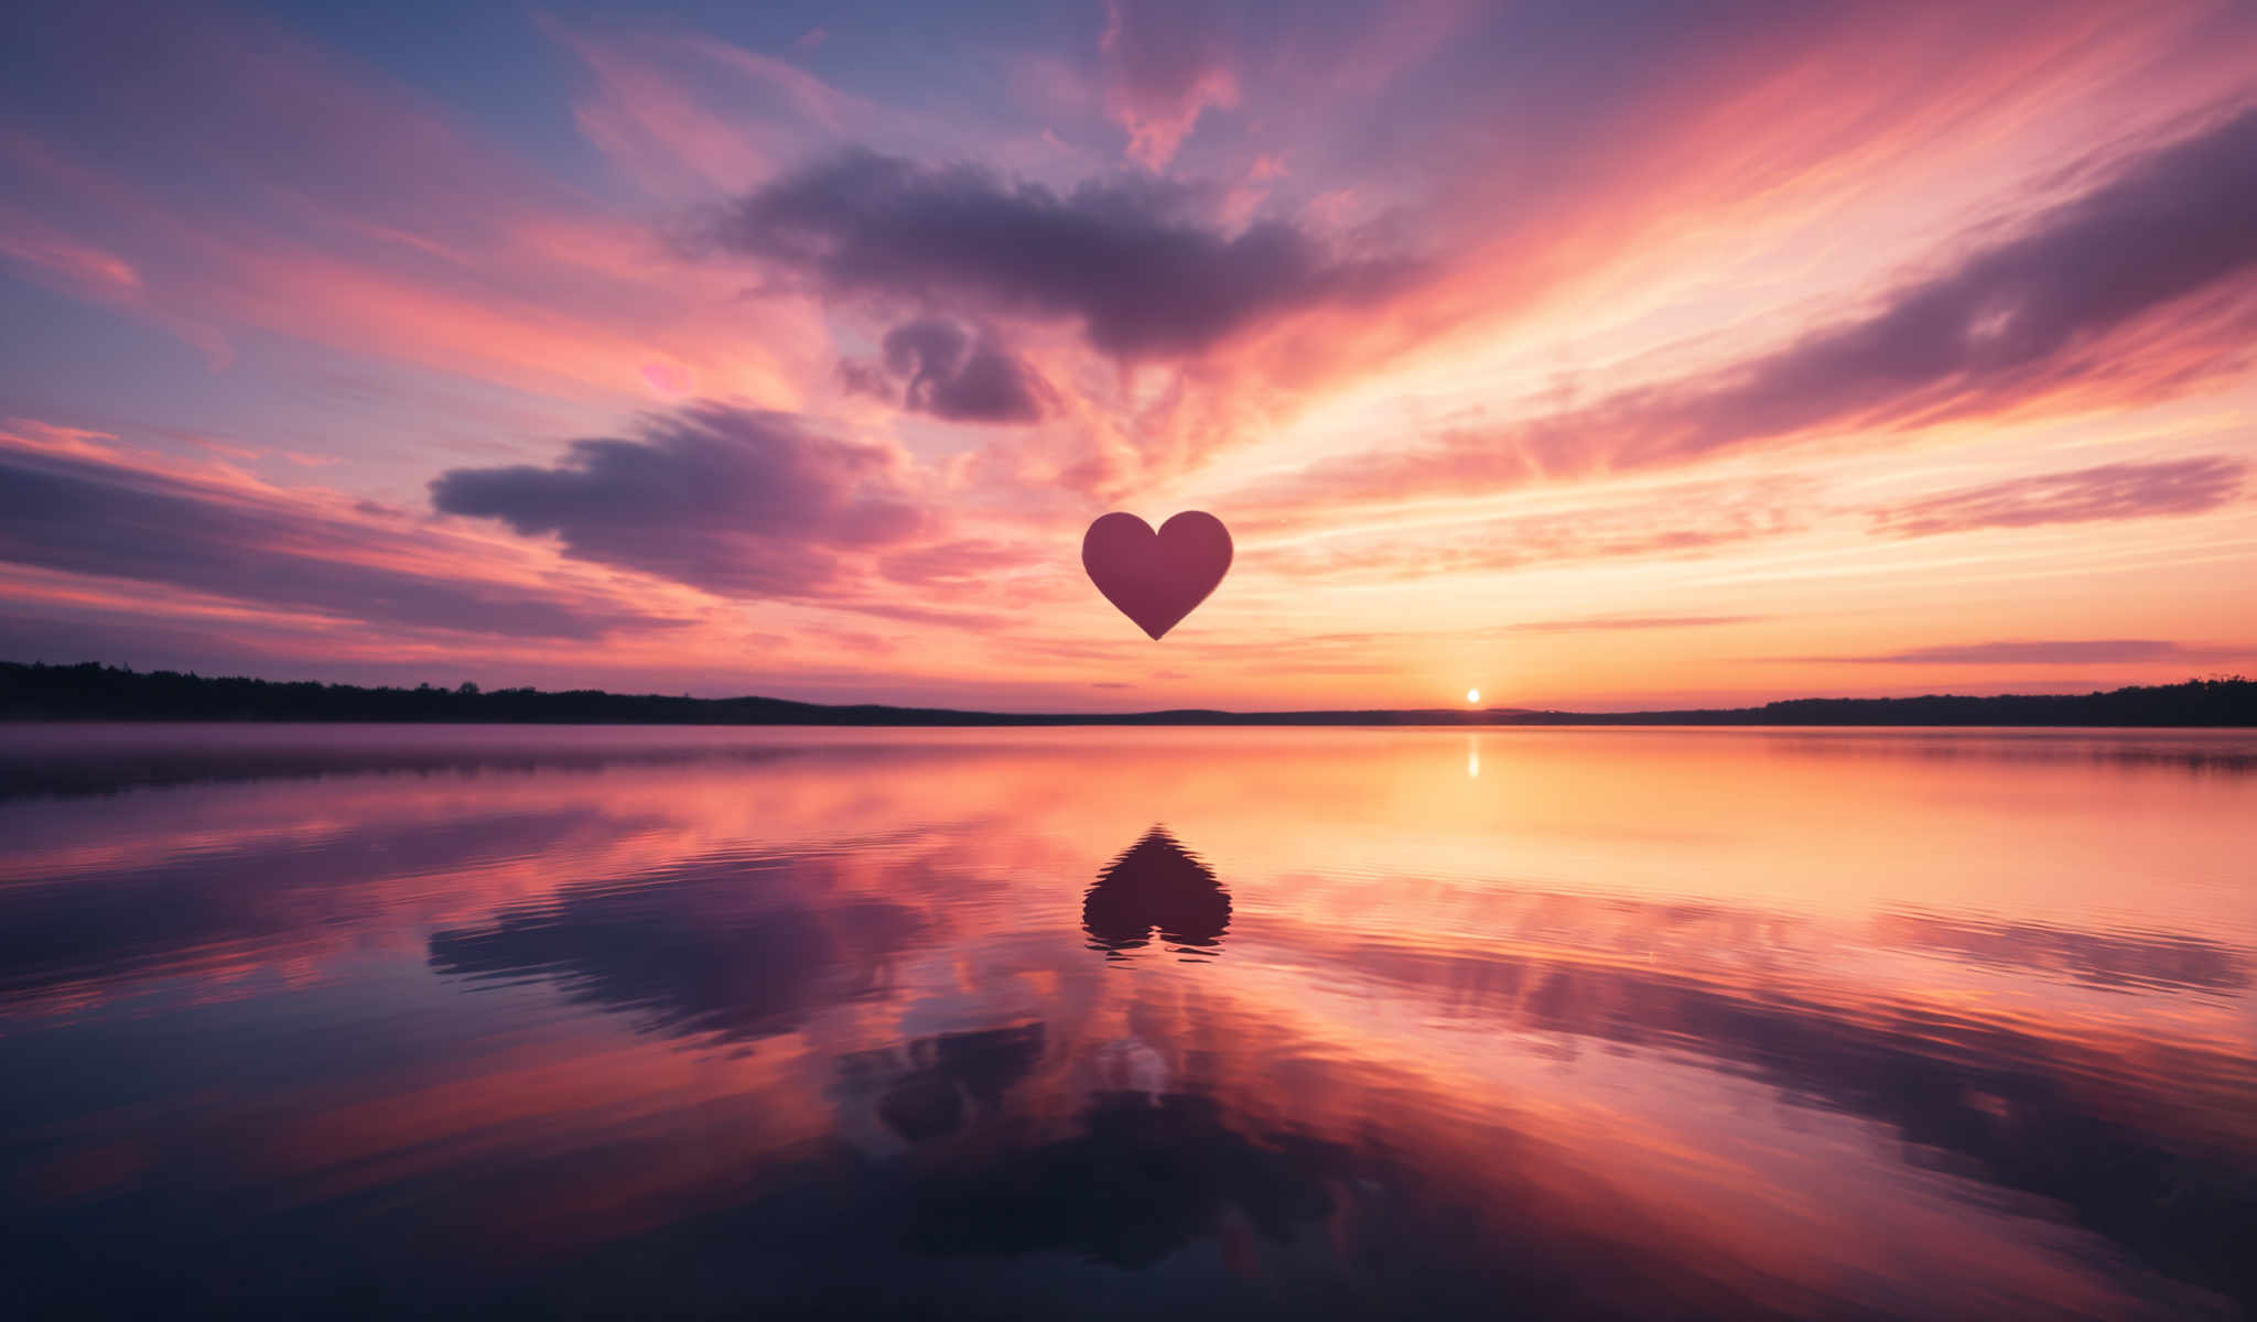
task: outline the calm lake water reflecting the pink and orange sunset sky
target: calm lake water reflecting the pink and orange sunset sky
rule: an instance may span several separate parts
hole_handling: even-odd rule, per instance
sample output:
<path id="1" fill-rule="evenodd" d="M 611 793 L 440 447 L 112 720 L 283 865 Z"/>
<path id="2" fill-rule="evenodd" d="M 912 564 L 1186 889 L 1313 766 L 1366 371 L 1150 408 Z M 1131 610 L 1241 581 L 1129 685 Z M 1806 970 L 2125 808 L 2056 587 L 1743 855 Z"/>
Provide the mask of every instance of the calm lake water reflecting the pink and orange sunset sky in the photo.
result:
<path id="1" fill-rule="evenodd" d="M 2246 733 L 0 726 L 0 1281 L 2232 1317 L 2252 846 Z"/>

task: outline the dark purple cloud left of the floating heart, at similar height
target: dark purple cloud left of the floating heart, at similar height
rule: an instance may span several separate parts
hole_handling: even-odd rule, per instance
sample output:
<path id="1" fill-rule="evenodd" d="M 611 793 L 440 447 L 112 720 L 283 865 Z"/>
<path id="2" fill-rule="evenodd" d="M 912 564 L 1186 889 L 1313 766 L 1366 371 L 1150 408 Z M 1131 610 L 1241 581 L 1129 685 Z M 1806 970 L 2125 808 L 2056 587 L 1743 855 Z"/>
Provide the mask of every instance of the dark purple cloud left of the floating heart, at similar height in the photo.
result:
<path id="1" fill-rule="evenodd" d="M 925 514 L 894 456 L 813 433 L 785 413 L 697 404 L 646 415 L 639 440 L 576 440 L 557 467 L 451 469 L 445 514 L 555 532 L 564 555 L 722 596 L 810 596 L 837 553 L 892 546 Z"/>

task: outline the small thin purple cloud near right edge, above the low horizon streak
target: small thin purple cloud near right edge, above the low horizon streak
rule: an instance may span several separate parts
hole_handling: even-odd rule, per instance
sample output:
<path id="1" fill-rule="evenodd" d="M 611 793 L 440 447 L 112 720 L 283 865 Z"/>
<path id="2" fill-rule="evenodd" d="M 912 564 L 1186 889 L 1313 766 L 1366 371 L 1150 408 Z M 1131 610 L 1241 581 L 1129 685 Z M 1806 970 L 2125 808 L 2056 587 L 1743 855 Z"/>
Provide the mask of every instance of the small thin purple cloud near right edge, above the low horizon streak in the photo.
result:
<path id="1" fill-rule="evenodd" d="M 2246 462 L 2212 453 L 2009 478 L 1873 510 L 1873 530 L 1932 537 L 1970 528 L 2201 514 L 2232 501 L 2241 492 L 2243 471 Z"/>

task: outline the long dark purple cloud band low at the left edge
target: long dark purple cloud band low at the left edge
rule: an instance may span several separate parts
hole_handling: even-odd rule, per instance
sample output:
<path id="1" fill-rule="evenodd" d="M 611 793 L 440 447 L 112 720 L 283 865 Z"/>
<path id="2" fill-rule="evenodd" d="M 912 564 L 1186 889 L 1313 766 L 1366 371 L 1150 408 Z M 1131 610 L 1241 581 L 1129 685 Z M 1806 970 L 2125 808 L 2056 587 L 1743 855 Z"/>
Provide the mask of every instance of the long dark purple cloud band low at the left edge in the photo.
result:
<path id="1" fill-rule="evenodd" d="M 413 526 L 97 456 L 0 451 L 0 562 L 476 634 L 598 638 L 670 623 L 594 593 L 402 569 L 429 559 Z"/>

